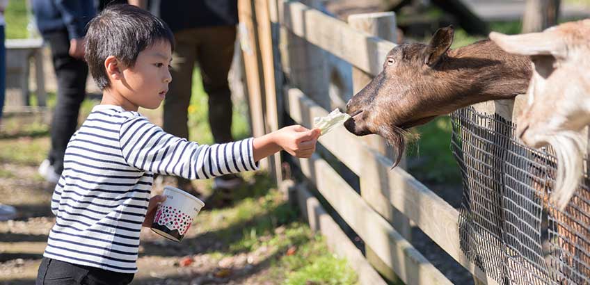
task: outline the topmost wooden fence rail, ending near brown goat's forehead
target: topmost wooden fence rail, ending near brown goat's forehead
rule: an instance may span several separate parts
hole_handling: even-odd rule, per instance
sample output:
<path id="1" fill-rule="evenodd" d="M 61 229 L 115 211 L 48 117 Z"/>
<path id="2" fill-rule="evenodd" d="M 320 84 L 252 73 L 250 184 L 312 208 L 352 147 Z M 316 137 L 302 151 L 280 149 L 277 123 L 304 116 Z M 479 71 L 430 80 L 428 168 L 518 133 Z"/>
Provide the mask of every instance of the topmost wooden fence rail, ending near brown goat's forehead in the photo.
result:
<path id="1" fill-rule="evenodd" d="M 373 76 L 383 70 L 385 57 L 396 45 L 368 33 L 356 31 L 346 22 L 305 6 L 301 2 L 272 1 L 275 3 L 271 3 L 271 21 L 278 22 L 295 35 Z"/>

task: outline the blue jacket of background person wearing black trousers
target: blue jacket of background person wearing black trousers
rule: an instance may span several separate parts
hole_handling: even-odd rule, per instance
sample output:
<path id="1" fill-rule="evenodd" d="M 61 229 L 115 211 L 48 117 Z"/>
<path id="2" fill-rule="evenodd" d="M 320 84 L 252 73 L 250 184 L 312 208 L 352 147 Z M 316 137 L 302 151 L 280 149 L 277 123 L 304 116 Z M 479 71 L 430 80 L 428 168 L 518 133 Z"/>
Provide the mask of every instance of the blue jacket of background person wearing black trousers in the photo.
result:
<path id="1" fill-rule="evenodd" d="M 94 0 L 33 0 L 40 33 L 67 31 L 71 39 L 86 35 L 86 25 L 96 15 Z"/>

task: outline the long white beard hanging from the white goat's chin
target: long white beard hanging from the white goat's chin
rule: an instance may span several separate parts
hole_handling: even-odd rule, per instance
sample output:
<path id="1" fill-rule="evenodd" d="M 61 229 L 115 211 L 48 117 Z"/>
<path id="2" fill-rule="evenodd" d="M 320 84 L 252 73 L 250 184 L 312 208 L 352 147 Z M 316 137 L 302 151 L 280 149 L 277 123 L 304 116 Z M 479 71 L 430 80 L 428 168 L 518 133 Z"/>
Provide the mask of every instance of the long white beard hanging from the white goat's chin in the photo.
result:
<path id="1" fill-rule="evenodd" d="M 584 139 L 579 132 L 561 131 L 546 140 L 557 156 L 557 177 L 552 196 L 557 207 L 563 210 L 582 178 Z"/>

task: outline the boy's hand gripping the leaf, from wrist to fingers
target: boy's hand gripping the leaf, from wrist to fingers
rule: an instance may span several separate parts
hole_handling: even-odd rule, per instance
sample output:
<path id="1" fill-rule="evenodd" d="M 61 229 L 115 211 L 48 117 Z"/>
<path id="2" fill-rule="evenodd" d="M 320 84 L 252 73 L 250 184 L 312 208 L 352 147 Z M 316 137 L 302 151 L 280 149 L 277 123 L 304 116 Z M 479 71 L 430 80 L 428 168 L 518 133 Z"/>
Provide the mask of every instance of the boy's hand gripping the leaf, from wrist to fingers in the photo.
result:
<path id="1" fill-rule="evenodd" d="M 310 158 L 315 152 L 315 144 L 320 134 L 320 129 L 310 130 L 294 125 L 278 130 L 276 132 L 276 142 L 285 152 L 292 156 Z"/>

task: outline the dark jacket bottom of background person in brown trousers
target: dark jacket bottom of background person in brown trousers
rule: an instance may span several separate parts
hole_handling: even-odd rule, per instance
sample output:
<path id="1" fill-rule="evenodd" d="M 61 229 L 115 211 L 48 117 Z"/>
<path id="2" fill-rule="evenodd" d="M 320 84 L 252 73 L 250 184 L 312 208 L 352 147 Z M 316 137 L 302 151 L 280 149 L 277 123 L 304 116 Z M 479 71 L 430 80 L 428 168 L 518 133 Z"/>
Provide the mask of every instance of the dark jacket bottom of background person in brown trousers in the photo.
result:
<path id="1" fill-rule="evenodd" d="M 173 32 L 238 23 L 237 0 L 160 0 L 159 8 Z"/>

